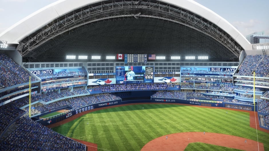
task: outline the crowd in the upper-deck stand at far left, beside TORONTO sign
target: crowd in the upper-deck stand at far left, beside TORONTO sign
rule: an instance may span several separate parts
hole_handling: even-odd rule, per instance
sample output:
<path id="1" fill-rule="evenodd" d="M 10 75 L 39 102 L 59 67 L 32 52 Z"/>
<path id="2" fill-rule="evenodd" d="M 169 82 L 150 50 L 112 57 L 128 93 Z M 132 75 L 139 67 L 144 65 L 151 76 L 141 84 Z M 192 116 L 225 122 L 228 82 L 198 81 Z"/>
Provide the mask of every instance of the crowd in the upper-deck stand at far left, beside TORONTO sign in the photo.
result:
<path id="1" fill-rule="evenodd" d="M 0 86 L 7 88 L 13 85 L 29 82 L 31 76 L 23 67 L 7 55 L 0 53 Z M 31 77 L 31 81 L 37 80 Z"/>

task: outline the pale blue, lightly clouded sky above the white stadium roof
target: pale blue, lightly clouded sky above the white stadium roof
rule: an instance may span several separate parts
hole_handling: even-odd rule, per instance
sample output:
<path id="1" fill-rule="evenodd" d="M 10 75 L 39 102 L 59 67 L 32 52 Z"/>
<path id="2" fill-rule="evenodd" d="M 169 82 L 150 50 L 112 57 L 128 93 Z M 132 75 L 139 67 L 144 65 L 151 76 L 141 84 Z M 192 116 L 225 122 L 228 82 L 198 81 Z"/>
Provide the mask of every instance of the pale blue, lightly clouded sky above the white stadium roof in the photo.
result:
<path id="1" fill-rule="evenodd" d="M 58 0 L 0 0 L 0 33 L 31 13 Z M 79 1 L 79 0 L 78 0 Z M 269 0 L 194 0 L 230 22 L 244 36 L 269 35 Z"/>

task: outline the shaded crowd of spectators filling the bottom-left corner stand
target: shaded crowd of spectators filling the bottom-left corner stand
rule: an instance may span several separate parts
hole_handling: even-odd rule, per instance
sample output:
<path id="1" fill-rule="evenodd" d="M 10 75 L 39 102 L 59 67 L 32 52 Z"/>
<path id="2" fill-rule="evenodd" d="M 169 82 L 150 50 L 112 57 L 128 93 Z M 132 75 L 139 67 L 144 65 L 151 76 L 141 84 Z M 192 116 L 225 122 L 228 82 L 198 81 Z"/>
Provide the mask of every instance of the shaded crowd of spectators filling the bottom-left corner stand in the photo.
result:
<path id="1" fill-rule="evenodd" d="M 17 128 L 0 144 L 5 151 L 85 151 L 86 146 L 43 126 L 29 117 L 21 117 Z"/>

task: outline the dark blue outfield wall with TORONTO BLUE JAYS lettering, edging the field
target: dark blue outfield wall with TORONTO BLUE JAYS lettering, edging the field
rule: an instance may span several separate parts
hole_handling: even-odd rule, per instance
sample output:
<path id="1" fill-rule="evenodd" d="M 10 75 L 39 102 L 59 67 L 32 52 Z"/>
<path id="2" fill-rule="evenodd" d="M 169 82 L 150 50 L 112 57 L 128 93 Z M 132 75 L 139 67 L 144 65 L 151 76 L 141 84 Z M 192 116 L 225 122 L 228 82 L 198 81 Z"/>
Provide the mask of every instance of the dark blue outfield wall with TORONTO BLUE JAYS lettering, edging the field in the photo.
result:
<path id="1" fill-rule="evenodd" d="M 237 103 L 230 103 L 230 102 L 221 102 L 221 101 L 210 101 L 210 100 L 199 100 L 197 98 L 195 99 L 175 99 L 175 98 L 151 98 L 151 100 L 130 100 L 130 101 L 122 101 L 119 100 L 112 100 L 107 102 L 99 102 L 95 104 L 91 104 L 88 106 L 84 106 L 82 108 L 78 109 L 72 109 L 68 112 L 58 114 L 56 116 L 52 116 L 45 119 L 37 120 L 37 122 L 47 126 L 51 123 L 56 123 L 61 120 L 64 120 L 66 118 L 69 118 L 75 114 L 79 114 L 80 112 L 84 112 L 86 110 L 91 110 L 94 108 L 102 108 L 102 107 L 108 107 L 108 106 L 114 106 L 114 105 L 120 105 L 120 104 L 132 104 L 132 103 L 181 103 L 181 104 L 190 104 L 190 105 L 199 105 L 199 106 L 212 106 L 212 107 L 223 107 L 223 108 L 234 108 L 235 106 L 237 109 L 248 108 L 248 110 L 254 111 L 254 105 L 248 105 L 248 104 L 237 104 Z M 238 108 L 239 106 L 239 108 Z M 241 108 L 242 107 L 242 108 Z M 255 109 L 257 106 L 255 106 Z"/>

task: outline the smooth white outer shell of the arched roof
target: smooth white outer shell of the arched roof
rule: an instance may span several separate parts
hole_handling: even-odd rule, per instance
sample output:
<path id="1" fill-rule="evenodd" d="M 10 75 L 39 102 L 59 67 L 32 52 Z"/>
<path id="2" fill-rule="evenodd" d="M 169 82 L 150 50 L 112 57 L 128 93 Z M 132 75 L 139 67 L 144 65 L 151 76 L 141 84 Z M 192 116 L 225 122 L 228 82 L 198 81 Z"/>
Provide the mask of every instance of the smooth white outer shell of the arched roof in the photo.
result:
<path id="1" fill-rule="evenodd" d="M 53 19 L 64 15 L 65 13 L 74 10 L 76 8 L 88 5 L 89 3 L 97 2 L 95 0 L 59 0 L 52 3 L 33 14 L 25 17 L 15 25 L 0 34 L 0 39 L 5 40 L 8 43 L 18 43 L 18 40 L 23 38 L 25 35 L 35 31 L 39 27 L 46 25 Z M 217 15 L 210 9 L 196 3 L 192 0 L 167 0 L 163 1 L 171 3 L 180 7 L 183 7 L 189 11 L 192 11 L 207 20 L 215 23 L 221 29 L 230 34 L 236 41 L 246 49 L 250 43 L 246 38 L 228 21 Z"/>

